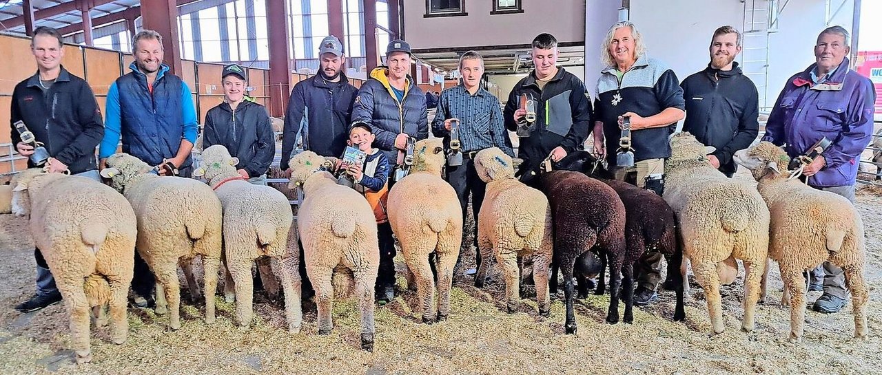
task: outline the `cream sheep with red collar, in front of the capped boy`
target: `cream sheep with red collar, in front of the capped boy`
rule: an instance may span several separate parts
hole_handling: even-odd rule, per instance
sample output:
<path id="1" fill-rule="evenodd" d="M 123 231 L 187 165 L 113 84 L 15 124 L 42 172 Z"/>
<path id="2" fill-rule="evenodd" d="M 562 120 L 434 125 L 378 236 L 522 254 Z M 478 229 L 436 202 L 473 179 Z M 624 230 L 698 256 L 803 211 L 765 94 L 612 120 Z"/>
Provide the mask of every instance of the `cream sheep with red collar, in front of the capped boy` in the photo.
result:
<path id="1" fill-rule="evenodd" d="M 224 261 L 235 284 L 236 318 L 241 326 L 250 325 L 254 314 L 251 263 L 268 256 L 285 290 L 288 330 L 299 332 L 300 298 L 294 298 L 292 280 L 297 269 L 280 269 L 278 264 L 290 264 L 286 260 L 296 256 L 291 254 L 296 247 L 288 251 L 288 231 L 294 218 L 291 206 L 279 190 L 249 183 L 236 172 L 237 164 L 239 159 L 231 157 L 226 147 L 215 144 L 202 151 L 202 166 L 193 171 L 194 176 L 203 176 L 221 199 Z M 225 283 L 224 289 L 228 286 Z"/>

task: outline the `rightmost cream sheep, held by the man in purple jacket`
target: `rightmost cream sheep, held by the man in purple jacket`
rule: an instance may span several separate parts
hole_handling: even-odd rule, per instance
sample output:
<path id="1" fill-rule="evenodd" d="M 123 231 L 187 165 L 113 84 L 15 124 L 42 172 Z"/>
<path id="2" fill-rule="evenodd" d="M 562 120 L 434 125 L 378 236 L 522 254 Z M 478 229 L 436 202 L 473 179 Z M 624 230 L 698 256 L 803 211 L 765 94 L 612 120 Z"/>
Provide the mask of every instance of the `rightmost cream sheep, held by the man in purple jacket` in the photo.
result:
<path id="1" fill-rule="evenodd" d="M 769 258 L 778 262 L 790 306 L 790 342 L 801 342 L 805 322 L 803 273 L 829 261 L 845 272 L 855 314 L 855 337 L 867 336 L 867 285 L 863 279 L 866 247 L 863 222 L 848 199 L 789 179 L 787 152 L 761 142 L 738 151 L 735 161 L 751 169 L 771 213 Z M 792 296 L 792 299 L 791 299 Z"/>

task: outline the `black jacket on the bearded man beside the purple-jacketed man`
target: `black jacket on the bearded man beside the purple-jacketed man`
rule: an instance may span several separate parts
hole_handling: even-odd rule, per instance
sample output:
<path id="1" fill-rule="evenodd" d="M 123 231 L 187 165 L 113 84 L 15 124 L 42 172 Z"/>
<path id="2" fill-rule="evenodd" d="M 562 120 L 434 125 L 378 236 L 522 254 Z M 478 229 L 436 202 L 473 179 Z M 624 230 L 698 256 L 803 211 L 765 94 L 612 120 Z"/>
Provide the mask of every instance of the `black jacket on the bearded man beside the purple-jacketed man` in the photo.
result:
<path id="1" fill-rule="evenodd" d="M 720 159 L 720 172 L 735 173 L 732 154 L 749 147 L 759 133 L 757 86 L 737 62 L 732 70 L 708 65 L 686 77 L 681 86 L 686 99 L 683 131 L 716 148 L 712 155 Z"/>

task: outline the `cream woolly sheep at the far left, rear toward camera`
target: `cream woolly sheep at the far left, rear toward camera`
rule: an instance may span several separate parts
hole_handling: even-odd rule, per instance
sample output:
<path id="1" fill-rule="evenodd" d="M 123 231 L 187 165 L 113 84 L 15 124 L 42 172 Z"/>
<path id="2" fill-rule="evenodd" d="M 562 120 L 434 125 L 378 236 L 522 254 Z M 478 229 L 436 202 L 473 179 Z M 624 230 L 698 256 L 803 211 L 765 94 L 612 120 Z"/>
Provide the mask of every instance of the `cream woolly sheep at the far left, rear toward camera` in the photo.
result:
<path id="1" fill-rule="evenodd" d="M 126 296 L 134 267 L 137 222 L 123 195 L 101 182 L 29 169 L 12 180 L 17 216 L 30 215 L 40 249 L 71 320 L 77 363 L 92 360 L 89 307 L 107 304 L 110 341 L 122 344 L 129 331 Z"/>

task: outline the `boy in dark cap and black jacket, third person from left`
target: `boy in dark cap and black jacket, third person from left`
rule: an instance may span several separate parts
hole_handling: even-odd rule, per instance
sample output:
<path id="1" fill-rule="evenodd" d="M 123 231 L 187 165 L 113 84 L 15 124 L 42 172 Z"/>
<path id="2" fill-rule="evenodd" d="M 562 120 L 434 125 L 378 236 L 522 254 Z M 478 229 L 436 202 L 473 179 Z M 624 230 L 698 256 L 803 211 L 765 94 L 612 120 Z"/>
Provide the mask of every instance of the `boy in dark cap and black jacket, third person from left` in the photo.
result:
<path id="1" fill-rule="evenodd" d="M 238 172 L 250 182 L 266 185 L 266 171 L 275 156 L 275 136 L 266 108 L 245 99 L 248 79 L 236 64 L 223 68 L 224 102 L 208 110 L 203 131 L 203 150 L 214 144 L 239 158 Z"/>

